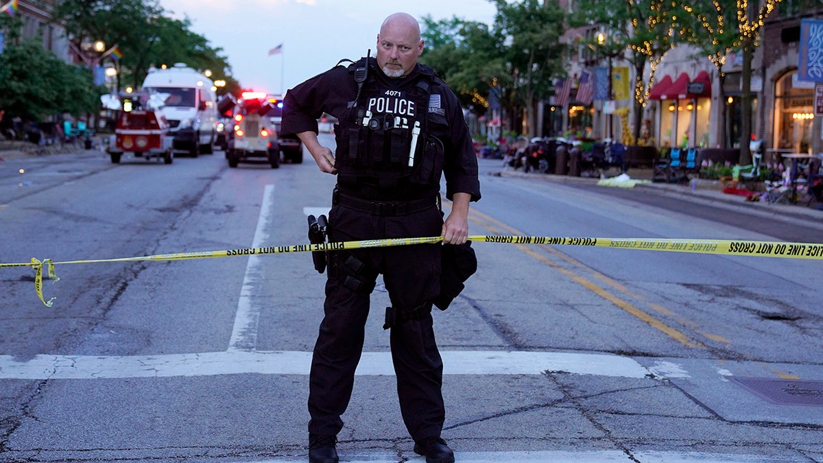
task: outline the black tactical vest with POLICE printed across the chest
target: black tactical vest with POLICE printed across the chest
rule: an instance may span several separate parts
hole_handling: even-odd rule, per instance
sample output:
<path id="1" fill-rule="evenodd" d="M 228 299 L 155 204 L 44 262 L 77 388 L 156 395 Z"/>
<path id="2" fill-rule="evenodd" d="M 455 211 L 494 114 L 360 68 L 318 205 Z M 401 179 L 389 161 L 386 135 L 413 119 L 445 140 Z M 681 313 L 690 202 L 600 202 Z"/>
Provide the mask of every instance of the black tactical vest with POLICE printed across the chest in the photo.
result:
<path id="1" fill-rule="evenodd" d="M 374 60 L 370 59 L 370 64 Z M 339 122 L 335 167 L 337 182 L 356 190 L 368 185 L 381 191 L 412 193 L 415 185 L 439 185 L 444 145 L 435 136 L 448 129 L 439 96 L 432 98 L 434 73 L 422 68 L 416 79 L 389 86 L 368 69 L 365 60 L 349 66 L 361 83 L 356 101 Z M 388 82 L 391 82 L 390 80 Z M 432 107 L 432 101 L 436 101 Z"/>

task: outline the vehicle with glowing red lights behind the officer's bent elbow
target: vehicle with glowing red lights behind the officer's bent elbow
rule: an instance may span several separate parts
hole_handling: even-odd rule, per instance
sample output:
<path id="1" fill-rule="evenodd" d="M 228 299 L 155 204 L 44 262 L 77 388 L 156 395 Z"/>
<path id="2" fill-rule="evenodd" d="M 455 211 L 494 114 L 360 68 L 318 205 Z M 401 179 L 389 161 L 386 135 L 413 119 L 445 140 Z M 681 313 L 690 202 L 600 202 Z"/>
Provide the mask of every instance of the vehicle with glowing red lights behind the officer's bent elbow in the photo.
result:
<path id="1" fill-rule="evenodd" d="M 271 109 L 266 94 L 244 91 L 232 111 L 232 129 L 226 134 L 226 160 L 230 167 L 239 162 L 268 162 L 280 167 L 280 147 L 274 125 L 266 117 Z"/>

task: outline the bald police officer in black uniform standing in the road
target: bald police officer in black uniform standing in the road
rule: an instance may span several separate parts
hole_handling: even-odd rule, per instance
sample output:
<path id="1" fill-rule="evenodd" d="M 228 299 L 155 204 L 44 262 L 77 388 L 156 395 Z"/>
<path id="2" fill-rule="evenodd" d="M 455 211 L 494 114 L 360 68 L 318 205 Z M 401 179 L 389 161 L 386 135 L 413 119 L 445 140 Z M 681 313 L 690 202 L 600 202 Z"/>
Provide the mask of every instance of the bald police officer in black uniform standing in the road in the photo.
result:
<path id="1" fill-rule="evenodd" d="M 480 199 L 477 158 L 457 96 L 417 63 L 420 26 L 388 16 L 376 58 L 337 66 L 286 93 L 283 133 L 297 133 L 320 170 L 337 175 L 330 241 L 443 236 L 461 245 L 470 201 Z M 334 155 L 317 137 L 317 119 L 337 117 Z M 440 177 L 453 201 L 443 220 Z M 364 342 L 370 293 L 384 275 L 403 422 L 429 463 L 454 461 L 440 437 L 445 419 L 443 362 L 433 330 L 440 288 L 440 244 L 340 250 L 329 255 L 326 300 L 309 376 L 309 461 L 337 462 L 337 433 Z"/>

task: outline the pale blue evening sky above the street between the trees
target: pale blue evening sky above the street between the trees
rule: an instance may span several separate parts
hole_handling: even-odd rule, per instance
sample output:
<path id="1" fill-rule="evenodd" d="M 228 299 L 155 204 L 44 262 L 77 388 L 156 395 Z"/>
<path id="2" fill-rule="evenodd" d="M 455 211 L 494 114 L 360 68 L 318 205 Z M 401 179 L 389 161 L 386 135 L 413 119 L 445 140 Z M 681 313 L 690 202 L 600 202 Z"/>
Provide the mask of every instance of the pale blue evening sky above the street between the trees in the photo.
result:
<path id="1" fill-rule="evenodd" d="M 192 22 L 190 30 L 223 49 L 231 73 L 244 88 L 281 94 L 374 47 L 386 16 L 403 11 L 418 21 L 458 16 L 491 24 L 489 0 L 160 0 L 171 17 Z M 398 9 L 398 8 L 403 8 Z M 280 54 L 270 49 L 282 44 Z M 425 53 L 425 52 L 424 52 Z"/>

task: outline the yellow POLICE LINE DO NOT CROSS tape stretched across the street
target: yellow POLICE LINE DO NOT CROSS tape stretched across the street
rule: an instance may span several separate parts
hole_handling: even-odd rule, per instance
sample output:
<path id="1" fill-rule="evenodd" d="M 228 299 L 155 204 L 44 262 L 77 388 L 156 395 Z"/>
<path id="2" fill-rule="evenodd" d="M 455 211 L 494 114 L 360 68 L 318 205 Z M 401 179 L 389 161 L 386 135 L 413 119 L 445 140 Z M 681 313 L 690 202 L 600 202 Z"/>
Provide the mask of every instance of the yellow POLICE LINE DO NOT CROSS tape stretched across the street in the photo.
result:
<path id="1" fill-rule="evenodd" d="M 506 243 L 516 245 L 550 245 L 550 246 L 597 246 L 616 249 L 663 250 L 672 252 L 692 252 L 717 255 L 752 255 L 760 257 L 783 257 L 789 259 L 823 260 L 823 244 L 787 243 L 778 241 L 744 241 L 744 240 L 677 240 L 667 238 L 574 238 L 563 236 L 469 236 L 471 241 L 487 243 Z M 269 246 L 243 248 L 234 250 L 210 250 L 200 252 L 181 252 L 176 254 L 145 255 L 142 257 L 125 257 L 120 259 L 68 260 L 53 262 L 51 259 L 36 260 L 24 264 L 0 264 L 4 267 L 32 267 L 35 273 L 35 290 L 46 306 L 52 306 L 54 298 L 43 298 L 43 267 L 45 266 L 52 283 L 59 278 L 54 274 L 56 264 L 91 264 L 96 262 L 130 262 L 140 260 L 189 260 L 209 257 L 230 257 L 233 255 L 267 255 L 289 254 L 326 250 L 349 250 L 386 246 L 406 246 L 434 244 L 443 241 L 442 236 L 421 238 L 389 238 L 384 240 L 340 241 L 323 244 L 292 246 Z"/>

